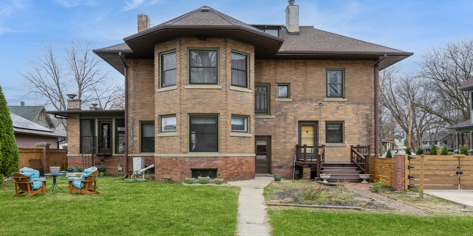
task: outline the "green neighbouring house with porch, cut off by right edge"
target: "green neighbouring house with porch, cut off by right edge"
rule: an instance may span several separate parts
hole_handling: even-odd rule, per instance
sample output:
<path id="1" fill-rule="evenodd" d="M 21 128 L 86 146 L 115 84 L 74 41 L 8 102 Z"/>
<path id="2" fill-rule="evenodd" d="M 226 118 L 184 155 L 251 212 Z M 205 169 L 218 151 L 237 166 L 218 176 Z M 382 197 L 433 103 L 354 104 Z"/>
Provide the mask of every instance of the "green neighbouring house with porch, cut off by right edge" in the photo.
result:
<path id="1" fill-rule="evenodd" d="M 458 89 L 466 91 L 470 95 L 470 119 L 446 129 L 455 132 L 455 150 L 459 150 L 462 146 L 469 146 L 471 149 L 473 148 L 473 77 L 467 79 Z M 468 142 L 470 145 L 467 145 L 464 133 L 470 133 L 470 142 Z"/>

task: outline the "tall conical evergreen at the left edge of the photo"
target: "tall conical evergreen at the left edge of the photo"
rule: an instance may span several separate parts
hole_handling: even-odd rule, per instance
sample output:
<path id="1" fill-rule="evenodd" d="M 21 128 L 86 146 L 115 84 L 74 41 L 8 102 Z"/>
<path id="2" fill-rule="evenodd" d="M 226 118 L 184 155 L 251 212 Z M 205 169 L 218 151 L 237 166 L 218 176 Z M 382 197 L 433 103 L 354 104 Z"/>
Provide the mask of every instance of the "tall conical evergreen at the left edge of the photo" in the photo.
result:
<path id="1" fill-rule="evenodd" d="M 0 185 L 3 183 L 3 177 L 18 172 L 19 165 L 20 155 L 13 134 L 13 122 L 0 87 Z"/>

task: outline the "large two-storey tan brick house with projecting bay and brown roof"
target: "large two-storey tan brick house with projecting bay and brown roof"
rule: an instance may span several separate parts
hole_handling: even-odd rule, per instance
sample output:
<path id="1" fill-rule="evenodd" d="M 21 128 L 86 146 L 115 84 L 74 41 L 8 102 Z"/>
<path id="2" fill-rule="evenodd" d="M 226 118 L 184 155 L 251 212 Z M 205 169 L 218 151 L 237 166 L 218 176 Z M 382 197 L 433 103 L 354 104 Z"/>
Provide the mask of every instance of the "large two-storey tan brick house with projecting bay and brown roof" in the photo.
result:
<path id="1" fill-rule="evenodd" d="M 298 7 L 286 8 L 286 25 L 207 6 L 151 28 L 138 15 L 137 34 L 94 50 L 124 75 L 125 110 L 80 110 L 72 96 L 67 111 L 49 112 L 68 119 L 69 166 L 101 144 L 111 173 L 143 157 L 157 180 L 234 181 L 292 177 L 296 145 L 325 145 L 325 161 L 377 146 L 378 70 L 413 53 L 299 26 Z M 315 177 L 315 163 L 296 168 Z"/>

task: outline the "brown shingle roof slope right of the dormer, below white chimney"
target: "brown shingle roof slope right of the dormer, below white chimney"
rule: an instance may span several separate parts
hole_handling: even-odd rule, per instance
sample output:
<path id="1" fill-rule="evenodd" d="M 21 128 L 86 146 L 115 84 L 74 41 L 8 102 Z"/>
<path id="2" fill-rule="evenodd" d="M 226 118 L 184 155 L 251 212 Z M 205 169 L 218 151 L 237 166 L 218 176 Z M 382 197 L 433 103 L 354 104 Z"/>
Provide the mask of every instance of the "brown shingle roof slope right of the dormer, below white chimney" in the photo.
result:
<path id="1" fill-rule="evenodd" d="M 349 52 L 386 52 L 405 53 L 405 51 L 381 46 L 371 42 L 350 38 L 340 34 L 315 29 L 313 26 L 300 26 L 299 34 L 288 34 L 285 27 L 281 30 L 284 43 L 282 51 L 349 51 Z"/>

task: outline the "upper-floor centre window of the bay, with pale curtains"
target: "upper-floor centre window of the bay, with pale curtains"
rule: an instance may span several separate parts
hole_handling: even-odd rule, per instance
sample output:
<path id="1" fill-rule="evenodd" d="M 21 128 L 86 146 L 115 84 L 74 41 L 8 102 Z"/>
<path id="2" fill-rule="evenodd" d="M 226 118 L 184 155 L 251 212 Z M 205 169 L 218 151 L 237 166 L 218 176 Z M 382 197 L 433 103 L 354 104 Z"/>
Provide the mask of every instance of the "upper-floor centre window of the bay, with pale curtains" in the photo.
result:
<path id="1" fill-rule="evenodd" d="M 189 51 L 189 84 L 219 84 L 217 50 Z"/>

